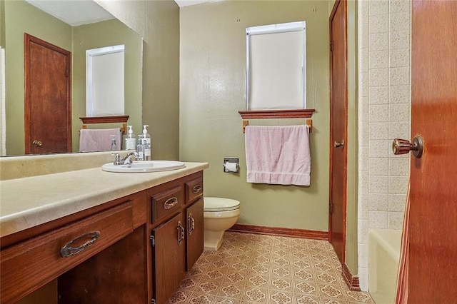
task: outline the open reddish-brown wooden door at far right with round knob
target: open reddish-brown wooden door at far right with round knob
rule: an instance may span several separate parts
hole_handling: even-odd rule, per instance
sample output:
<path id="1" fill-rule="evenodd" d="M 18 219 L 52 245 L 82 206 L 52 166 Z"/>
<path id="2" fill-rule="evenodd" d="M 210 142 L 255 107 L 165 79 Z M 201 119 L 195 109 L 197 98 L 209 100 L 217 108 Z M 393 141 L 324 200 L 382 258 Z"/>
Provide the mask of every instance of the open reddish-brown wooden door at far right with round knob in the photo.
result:
<path id="1" fill-rule="evenodd" d="M 457 301 L 457 1 L 413 0 L 408 303 Z"/>

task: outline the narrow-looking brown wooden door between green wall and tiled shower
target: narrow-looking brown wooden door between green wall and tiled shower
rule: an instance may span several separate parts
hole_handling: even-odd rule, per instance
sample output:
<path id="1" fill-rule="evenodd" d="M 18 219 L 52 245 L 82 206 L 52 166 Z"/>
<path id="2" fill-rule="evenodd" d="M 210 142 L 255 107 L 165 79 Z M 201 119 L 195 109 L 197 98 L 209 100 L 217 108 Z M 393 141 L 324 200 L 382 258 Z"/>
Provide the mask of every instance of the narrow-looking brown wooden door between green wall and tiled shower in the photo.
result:
<path id="1" fill-rule="evenodd" d="M 346 254 L 347 47 L 346 1 L 336 1 L 330 16 L 330 242 L 341 263 Z"/>

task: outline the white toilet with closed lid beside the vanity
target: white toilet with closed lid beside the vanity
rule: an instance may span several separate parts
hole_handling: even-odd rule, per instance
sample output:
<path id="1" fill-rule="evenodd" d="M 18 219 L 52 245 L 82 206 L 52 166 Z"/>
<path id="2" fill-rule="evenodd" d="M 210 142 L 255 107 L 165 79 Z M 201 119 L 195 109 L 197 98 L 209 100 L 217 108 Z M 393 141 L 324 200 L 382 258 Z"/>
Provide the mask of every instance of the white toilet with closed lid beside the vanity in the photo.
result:
<path id="1" fill-rule="evenodd" d="M 240 215 L 240 202 L 230 198 L 204 198 L 204 247 L 218 250 L 224 232 L 231 228 Z"/>

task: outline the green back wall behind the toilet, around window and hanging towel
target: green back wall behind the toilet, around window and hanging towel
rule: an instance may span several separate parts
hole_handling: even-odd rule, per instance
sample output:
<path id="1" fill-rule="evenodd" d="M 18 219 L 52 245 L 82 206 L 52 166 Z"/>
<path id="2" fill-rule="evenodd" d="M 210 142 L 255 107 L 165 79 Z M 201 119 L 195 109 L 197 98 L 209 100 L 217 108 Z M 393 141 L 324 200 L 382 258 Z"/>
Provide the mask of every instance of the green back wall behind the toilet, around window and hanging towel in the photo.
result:
<path id="1" fill-rule="evenodd" d="M 315 108 L 311 186 L 246 183 L 242 120 L 246 109 L 246 27 L 306 21 L 307 106 Z M 180 14 L 180 158 L 207 161 L 206 196 L 241 202 L 238 223 L 328 230 L 328 1 L 220 1 L 184 6 Z M 257 119 L 255 124 L 303 124 Z M 240 158 L 224 173 L 224 156 Z"/>

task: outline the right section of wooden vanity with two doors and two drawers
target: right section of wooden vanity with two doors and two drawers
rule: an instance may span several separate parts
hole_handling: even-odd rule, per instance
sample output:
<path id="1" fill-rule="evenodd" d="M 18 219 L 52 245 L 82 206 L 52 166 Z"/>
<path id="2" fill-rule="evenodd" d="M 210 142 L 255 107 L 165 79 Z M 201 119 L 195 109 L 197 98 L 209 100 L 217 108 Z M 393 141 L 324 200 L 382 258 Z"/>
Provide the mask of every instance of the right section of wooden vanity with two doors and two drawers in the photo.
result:
<path id="1" fill-rule="evenodd" d="M 203 173 L 149 189 L 153 301 L 164 304 L 203 252 Z"/>

